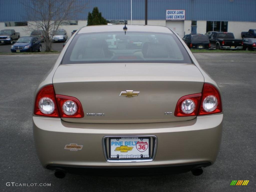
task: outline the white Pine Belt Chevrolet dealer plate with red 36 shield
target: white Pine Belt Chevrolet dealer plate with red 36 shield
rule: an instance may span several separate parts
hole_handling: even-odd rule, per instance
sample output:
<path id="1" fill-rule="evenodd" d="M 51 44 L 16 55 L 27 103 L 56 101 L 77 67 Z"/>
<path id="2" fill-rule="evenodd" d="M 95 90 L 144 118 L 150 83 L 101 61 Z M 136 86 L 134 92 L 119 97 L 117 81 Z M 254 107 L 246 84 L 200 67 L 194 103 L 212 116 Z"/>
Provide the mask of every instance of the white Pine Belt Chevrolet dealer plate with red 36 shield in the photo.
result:
<path id="1" fill-rule="evenodd" d="M 150 137 L 114 137 L 109 139 L 109 159 L 149 159 Z"/>

